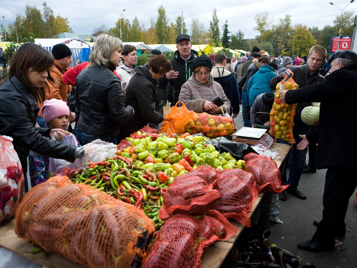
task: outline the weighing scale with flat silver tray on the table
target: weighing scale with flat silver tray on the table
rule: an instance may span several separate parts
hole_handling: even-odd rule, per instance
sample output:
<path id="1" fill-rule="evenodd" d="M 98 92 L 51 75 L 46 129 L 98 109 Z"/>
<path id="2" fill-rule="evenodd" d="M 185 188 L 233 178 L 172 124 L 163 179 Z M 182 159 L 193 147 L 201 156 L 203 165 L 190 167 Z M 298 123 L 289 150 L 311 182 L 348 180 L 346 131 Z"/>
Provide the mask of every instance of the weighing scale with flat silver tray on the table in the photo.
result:
<path id="1" fill-rule="evenodd" d="M 233 142 L 242 142 L 251 145 L 262 144 L 267 149 L 270 149 L 274 139 L 266 133 L 267 129 L 247 128 L 243 126 L 233 134 Z"/>

